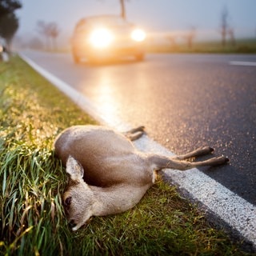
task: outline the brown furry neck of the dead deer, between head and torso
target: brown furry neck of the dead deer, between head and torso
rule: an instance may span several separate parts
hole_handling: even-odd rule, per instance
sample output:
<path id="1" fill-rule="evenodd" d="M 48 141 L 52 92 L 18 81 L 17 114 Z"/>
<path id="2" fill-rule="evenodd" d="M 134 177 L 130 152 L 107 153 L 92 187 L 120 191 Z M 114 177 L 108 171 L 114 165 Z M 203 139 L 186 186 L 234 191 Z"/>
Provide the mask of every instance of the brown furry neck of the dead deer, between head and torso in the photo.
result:
<path id="1" fill-rule="evenodd" d="M 134 187 L 128 185 L 111 186 L 102 188 L 91 186 L 94 192 L 94 216 L 118 214 L 134 207 L 150 185 Z"/>

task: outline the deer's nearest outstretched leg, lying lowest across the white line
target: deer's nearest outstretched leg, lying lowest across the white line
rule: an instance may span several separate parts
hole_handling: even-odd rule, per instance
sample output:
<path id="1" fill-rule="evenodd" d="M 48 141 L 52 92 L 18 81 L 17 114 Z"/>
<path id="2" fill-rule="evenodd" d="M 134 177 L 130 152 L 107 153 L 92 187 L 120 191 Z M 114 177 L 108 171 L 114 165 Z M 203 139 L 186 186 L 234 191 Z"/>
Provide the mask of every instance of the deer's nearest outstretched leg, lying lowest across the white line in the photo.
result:
<path id="1" fill-rule="evenodd" d="M 165 156 L 151 155 L 150 162 L 154 166 L 155 170 L 162 169 L 174 169 L 174 170 L 189 170 L 199 166 L 219 166 L 229 162 L 229 158 L 224 156 L 210 158 L 201 162 L 188 162 L 184 160 L 177 160 L 174 158 L 168 158 Z"/>

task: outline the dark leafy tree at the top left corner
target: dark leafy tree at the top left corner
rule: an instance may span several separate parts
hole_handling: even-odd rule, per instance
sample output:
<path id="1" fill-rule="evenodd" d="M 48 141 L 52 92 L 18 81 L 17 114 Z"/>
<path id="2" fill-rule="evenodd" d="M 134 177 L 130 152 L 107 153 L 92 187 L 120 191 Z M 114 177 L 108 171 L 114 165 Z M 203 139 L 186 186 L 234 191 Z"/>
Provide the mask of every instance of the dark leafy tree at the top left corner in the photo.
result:
<path id="1" fill-rule="evenodd" d="M 10 43 L 18 30 L 18 18 L 14 11 L 22 8 L 18 0 L 0 0 L 0 37 L 6 41 L 10 50 Z"/>

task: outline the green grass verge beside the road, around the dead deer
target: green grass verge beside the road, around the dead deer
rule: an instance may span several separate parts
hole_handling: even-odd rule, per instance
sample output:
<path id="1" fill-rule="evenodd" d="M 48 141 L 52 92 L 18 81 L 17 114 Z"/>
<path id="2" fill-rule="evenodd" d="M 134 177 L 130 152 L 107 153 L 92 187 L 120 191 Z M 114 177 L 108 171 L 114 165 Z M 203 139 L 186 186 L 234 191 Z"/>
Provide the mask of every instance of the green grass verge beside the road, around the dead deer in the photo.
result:
<path id="1" fill-rule="evenodd" d="M 20 58 L 0 63 L 0 255 L 246 255 L 161 180 L 134 209 L 71 231 L 52 145 L 86 123 L 95 122 Z"/>

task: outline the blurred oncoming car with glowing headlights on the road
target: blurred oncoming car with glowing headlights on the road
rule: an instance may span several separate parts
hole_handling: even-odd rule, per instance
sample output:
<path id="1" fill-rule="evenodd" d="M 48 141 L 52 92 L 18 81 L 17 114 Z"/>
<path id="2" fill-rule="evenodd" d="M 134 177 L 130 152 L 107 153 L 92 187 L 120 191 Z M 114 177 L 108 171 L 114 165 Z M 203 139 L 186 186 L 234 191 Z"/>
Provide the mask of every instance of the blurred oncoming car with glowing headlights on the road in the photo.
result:
<path id="1" fill-rule="evenodd" d="M 100 15 L 82 18 L 74 28 L 71 50 L 75 63 L 106 58 L 133 56 L 143 60 L 145 56 L 144 30 L 134 26 L 121 16 Z"/>

